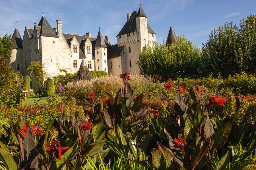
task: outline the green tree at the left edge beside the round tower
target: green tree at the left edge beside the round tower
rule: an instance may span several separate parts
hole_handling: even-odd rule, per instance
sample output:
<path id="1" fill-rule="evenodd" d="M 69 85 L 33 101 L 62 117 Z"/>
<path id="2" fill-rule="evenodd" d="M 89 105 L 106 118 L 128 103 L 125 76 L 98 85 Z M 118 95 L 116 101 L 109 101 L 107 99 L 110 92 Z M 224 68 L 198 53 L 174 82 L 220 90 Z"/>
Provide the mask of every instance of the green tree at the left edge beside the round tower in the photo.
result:
<path id="1" fill-rule="evenodd" d="M 11 39 L 11 35 L 5 34 L 5 36 L 1 37 L 0 34 L 0 55 L 4 55 L 8 60 L 11 56 L 11 50 L 13 48 L 13 41 Z"/>

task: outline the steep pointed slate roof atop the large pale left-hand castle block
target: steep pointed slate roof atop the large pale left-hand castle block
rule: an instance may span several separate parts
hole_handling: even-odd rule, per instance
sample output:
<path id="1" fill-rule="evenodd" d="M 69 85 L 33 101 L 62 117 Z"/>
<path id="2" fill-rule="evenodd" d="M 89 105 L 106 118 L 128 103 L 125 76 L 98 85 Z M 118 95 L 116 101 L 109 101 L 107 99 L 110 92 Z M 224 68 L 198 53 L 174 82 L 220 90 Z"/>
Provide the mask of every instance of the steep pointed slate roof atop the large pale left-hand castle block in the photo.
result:
<path id="1" fill-rule="evenodd" d="M 53 31 L 51 25 L 48 23 L 44 15 L 42 16 L 38 26 L 41 27 L 40 35 L 46 37 L 58 37 L 56 33 Z"/>

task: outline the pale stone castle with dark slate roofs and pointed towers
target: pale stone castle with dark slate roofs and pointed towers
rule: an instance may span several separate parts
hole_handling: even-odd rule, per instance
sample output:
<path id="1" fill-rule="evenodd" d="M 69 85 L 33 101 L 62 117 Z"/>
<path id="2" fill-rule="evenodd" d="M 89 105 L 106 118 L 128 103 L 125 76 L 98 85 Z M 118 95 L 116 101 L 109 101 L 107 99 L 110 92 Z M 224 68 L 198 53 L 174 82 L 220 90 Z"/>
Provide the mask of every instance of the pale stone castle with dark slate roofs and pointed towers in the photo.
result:
<path id="1" fill-rule="evenodd" d="M 60 69 L 75 73 L 83 58 L 89 70 L 111 74 L 139 73 L 136 63 L 141 49 L 147 44 L 152 46 L 156 41 L 156 33 L 147 24 L 147 16 L 141 6 L 138 12 L 127 14 L 127 22 L 118 33 L 115 45 L 110 44 L 109 36 L 102 37 L 100 27 L 97 37 L 92 37 L 90 32 L 83 36 L 63 33 L 62 21 L 56 22 L 57 27 L 52 28 L 43 12 L 38 25 L 35 22 L 33 29 L 25 27 L 23 39 L 16 27 L 10 64 L 21 75 L 28 74 L 26 68 L 33 61 L 43 63 L 51 78 L 63 74 Z M 172 41 L 169 35 L 168 39 Z M 38 90 L 36 82 L 31 86 L 34 91 Z"/>

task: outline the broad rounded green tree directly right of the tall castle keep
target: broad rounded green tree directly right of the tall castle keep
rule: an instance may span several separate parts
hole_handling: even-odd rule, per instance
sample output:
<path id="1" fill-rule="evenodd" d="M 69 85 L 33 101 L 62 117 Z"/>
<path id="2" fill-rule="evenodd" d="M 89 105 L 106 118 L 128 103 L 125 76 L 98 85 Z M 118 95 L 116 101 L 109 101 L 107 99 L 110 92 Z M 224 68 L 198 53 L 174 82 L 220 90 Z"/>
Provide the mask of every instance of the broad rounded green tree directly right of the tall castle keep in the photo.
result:
<path id="1" fill-rule="evenodd" d="M 138 65 L 140 72 L 147 75 L 162 76 L 167 81 L 169 77 L 197 78 L 201 75 L 201 51 L 189 40 L 180 35 L 176 43 L 149 45 L 141 51 Z"/>

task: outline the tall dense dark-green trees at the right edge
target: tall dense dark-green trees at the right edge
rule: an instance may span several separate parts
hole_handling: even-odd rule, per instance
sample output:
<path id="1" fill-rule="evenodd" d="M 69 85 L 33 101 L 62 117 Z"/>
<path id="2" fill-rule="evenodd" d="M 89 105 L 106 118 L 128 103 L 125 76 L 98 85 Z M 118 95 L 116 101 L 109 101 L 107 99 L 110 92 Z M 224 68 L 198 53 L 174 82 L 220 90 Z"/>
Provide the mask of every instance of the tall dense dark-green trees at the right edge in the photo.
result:
<path id="1" fill-rule="evenodd" d="M 226 22 L 214 29 L 202 47 L 204 73 L 220 72 L 228 77 L 242 70 L 255 73 L 256 53 L 256 16 L 248 15 L 247 20 L 240 20 L 240 28 L 233 22 Z"/>

